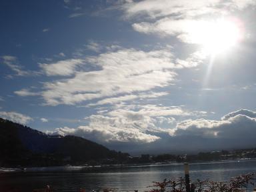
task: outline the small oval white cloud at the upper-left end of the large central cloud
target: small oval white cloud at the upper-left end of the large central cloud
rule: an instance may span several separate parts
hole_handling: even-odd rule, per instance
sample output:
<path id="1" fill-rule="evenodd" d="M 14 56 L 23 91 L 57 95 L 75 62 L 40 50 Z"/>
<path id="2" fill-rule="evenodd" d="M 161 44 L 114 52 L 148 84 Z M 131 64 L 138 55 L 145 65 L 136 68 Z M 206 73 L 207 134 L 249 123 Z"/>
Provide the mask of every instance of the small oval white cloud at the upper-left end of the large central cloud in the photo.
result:
<path id="1" fill-rule="evenodd" d="M 77 66 L 83 64 L 84 61 L 82 59 L 66 59 L 62 61 L 58 61 L 57 63 L 40 63 L 39 67 L 43 70 L 43 72 L 47 76 L 69 76 L 75 73 L 75 69 Z"/>

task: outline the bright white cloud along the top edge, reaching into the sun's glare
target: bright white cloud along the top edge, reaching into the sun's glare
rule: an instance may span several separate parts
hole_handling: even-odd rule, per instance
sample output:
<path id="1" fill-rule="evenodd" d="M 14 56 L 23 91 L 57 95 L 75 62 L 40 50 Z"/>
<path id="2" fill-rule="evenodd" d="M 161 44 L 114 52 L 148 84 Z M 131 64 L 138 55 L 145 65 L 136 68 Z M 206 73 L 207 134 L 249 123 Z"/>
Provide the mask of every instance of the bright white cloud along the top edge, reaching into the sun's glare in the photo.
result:
<path id="1" fill-rule="evenodd" d="M 145 0 L 124 3 L 121 9 L 126 19 L 135 19 L 132 24 L 135 31 L 171 35 L 185 43 L 201 43 L 199 41 L 205 41 L 203 35 L 215 29 L 215 19 L 252 5 L 256 5 L 255 1 Z"/>

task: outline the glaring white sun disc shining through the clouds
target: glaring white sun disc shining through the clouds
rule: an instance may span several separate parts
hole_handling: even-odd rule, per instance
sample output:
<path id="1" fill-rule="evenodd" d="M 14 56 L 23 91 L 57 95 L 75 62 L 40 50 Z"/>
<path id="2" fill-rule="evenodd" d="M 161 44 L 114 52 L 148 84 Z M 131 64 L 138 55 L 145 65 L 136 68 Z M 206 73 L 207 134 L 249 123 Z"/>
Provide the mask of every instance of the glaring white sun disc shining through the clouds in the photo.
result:
<path id="1" fill-rule="evenodd" d="M 192 26 L 191 26 L 192 27 Z M 205 53 L 225 53 L 241 41 L 241 27 L 233 19 L 200 21 L 190 30 L 191 41 L 202 46 Z"/>

